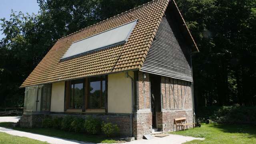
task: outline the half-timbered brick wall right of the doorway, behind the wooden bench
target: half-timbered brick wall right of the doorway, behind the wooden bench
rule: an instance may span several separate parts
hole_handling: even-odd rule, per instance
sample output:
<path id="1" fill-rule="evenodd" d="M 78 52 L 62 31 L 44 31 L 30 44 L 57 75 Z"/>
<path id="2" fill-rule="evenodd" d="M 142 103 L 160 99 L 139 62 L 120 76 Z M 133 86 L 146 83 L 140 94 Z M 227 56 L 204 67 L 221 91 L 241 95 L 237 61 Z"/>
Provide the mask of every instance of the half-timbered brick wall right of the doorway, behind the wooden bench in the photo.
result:
<path id="1" fill-rule="evenodd" d="M 162 76 L 161 97 L 162 112 L 157 113 L 158 128 L 164 132 L 176 131 L 174 118 L 186 117 L 188 123 L 193 122 L 191 82 Z"/>

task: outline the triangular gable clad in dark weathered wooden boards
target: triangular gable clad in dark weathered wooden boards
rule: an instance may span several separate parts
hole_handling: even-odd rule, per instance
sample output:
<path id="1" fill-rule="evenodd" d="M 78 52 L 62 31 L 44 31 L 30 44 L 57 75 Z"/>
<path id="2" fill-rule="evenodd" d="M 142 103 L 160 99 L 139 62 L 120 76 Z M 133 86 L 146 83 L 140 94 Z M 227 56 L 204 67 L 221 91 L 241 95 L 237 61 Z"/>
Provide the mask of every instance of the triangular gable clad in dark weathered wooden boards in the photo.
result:
<path id="1" fill-rule="evenodd" d="M 141 71 L 192 81 L 189 49 L 175 21 L 164 16 Z"/>

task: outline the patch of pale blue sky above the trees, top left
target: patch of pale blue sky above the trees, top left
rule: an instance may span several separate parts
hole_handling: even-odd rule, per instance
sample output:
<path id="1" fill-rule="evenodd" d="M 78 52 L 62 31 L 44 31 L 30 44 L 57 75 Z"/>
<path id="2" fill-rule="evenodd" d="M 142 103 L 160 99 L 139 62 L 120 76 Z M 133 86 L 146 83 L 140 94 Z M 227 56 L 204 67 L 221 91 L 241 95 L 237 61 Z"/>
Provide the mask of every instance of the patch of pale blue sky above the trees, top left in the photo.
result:
<path id="1" fill-rule="evenodd" d="M 34 12 L 37 14 L 39 6 L 36 0 L 0 0 L 0 18 L 9 20 L 12 9 L 17 12 L 28 12 L 28 14 Z M 0 29 L 2 28 L 0 27 Z M 0 39 L 3 37 L 4 35 L 2 34 L 2 31 L 0 31 Z"/>

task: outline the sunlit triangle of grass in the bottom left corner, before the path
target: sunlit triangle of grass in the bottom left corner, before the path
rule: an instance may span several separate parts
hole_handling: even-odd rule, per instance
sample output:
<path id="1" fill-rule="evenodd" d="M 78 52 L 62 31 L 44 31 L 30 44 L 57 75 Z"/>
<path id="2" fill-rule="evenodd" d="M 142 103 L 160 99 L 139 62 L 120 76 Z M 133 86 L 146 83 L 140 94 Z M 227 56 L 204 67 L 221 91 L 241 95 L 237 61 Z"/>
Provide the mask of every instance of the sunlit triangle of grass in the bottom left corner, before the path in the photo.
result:
<path id="1" fill-rule="evenodd" d="M 31 138 L 14 136 L 0 132 L 0 144 L 48 144 Z"/>

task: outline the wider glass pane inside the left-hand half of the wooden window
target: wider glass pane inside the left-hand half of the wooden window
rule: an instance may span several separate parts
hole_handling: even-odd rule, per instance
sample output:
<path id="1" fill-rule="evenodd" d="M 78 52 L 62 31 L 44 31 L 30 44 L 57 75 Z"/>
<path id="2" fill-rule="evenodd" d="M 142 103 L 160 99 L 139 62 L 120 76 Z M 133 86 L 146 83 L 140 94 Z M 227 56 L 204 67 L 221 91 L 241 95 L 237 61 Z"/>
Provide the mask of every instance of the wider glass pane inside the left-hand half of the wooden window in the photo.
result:
<path id="1" fill-rule="evenodd" d="M 83 84 L 74 85 L 74 108 L 82 109 L 83 104 Z"/>

